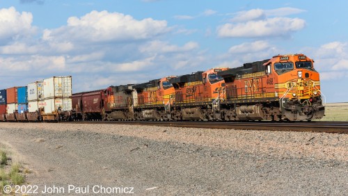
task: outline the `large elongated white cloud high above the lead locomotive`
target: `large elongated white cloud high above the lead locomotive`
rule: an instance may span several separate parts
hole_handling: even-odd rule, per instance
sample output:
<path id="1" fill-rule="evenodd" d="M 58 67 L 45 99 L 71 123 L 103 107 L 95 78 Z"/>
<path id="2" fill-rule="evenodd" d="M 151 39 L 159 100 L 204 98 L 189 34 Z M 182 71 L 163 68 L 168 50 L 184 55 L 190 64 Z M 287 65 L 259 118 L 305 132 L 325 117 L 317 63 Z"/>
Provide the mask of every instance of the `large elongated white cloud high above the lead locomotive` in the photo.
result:
<path id="1" fill-rule="evenodd" d="M 274 17 L 258 21 L 219 26 L 221 38 L 261 38 L 289 36 L 294 31 L 301 30 L 306 25 L 303 19 Z"/>

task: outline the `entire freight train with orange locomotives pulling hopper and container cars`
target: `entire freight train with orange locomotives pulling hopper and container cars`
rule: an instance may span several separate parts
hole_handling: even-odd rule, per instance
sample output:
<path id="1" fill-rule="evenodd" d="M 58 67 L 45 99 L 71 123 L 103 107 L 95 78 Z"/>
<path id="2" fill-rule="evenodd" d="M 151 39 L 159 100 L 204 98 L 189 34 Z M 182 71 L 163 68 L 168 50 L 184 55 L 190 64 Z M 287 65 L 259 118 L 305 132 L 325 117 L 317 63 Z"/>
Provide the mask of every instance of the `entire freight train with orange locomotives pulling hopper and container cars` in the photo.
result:
<path id="1" fill-rule="evenodd" d="M 75 94 L 71 77 L 70 85 L 69 77 L 54 77 L 51 82 L 61 92 L 53 96 L 54 102 L 45 101 L 44 80 L 44 102 L 35 112 L 20 113 L 18 108 L 0 120 L 319 120 L 325 108 L 313 63 L 303 54 L 278 55 L 236 68 L 216 67 Z M 65 81 L 59 84 L 59 79 Z M 28 85 L 28 95 L 32 89 Z"/>

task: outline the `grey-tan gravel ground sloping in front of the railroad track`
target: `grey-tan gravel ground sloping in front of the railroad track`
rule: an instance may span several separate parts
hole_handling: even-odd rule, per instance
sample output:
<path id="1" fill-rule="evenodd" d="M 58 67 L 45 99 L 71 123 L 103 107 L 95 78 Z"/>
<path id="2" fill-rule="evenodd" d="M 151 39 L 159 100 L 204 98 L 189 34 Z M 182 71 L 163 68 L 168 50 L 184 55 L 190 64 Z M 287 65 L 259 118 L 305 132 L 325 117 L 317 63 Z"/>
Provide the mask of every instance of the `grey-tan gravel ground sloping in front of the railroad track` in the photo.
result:
<path id="1" fill-rule="evenodd" d="M 40 189 L 98 184 L 134 187 L 140 195 L 348 191 L 348 136 L 342 134 L 1 123 L 0 143 L 35 171 L 28 181 Z"/>

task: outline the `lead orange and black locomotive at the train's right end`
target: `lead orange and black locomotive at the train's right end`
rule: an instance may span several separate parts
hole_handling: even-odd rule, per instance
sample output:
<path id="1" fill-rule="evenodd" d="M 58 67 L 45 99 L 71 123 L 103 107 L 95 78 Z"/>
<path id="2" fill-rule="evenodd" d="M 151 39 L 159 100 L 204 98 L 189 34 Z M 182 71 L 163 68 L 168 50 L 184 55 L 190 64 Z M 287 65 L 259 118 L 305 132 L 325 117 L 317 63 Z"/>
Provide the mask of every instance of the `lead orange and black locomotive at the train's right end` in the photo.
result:
<path id="1" fill-rule="evenodd" d="M 219 72 L 226 83 L 223 120 L 321 119 L 324 106 L 319 73 L 303 54 L 278 55 Z"/>

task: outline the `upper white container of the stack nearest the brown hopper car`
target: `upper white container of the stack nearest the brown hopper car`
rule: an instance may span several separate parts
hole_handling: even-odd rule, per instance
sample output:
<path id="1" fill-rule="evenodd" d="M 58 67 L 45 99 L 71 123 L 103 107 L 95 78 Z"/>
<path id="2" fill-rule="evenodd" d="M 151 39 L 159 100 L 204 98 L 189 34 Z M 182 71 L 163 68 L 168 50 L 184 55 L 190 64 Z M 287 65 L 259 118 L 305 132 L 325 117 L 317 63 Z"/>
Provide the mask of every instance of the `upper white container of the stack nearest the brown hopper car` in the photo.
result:
<path id="1" fill-rule="evenodd" d="M 44 97 L 71 97 L 72 95 L 72 77 L 71 76 L 54 76 L 44 79 Z"/>

